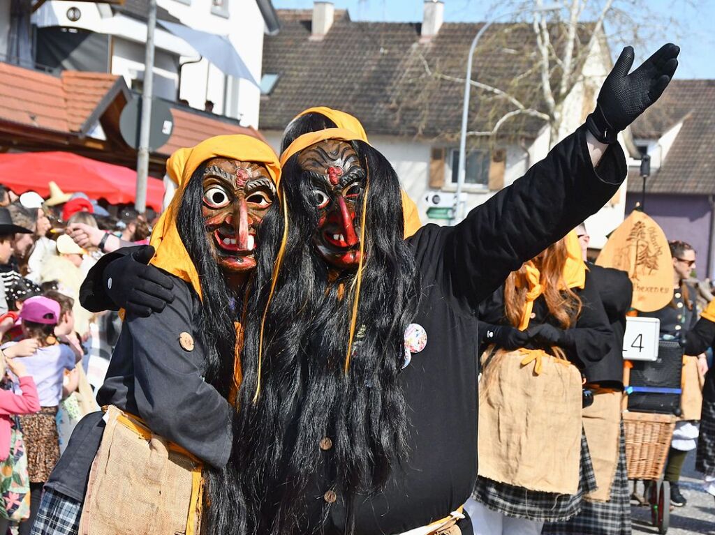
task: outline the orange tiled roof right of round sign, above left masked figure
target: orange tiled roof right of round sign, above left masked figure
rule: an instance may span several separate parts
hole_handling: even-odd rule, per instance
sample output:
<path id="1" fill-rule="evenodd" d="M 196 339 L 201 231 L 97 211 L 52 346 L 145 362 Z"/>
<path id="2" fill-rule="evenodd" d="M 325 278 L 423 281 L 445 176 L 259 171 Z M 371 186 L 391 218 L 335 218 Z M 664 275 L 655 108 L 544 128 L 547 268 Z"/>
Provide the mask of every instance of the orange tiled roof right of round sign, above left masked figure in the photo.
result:
<path id="1" fill-rule="evenodd" d="M 157 151 L 159 154 L 172 154 L 184 146 L 194 146 L 212 136 L 226 134 L 246 134 L 262 141 L 265 138 L 256 129 L 238 125 L 235 121 L 213 118 L 200 112 L 190 112 L 172 108 L 174 116 L 174 131 L 164 146 Z"/>

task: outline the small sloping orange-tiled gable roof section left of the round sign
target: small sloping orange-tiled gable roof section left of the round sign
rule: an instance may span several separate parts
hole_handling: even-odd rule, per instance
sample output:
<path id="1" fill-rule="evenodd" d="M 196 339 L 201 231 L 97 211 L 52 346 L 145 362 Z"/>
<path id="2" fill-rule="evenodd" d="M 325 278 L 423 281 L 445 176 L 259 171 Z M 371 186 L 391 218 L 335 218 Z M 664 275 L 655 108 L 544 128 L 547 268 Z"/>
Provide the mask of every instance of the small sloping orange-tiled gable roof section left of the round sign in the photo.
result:
<path id="1" fill-rule="evenodd" d="M 71 131 L 79 131 L 97 109 L 119 76 L 100 72 L 62 71 L 61 81 L 66 96 L 67 119 Z"/>

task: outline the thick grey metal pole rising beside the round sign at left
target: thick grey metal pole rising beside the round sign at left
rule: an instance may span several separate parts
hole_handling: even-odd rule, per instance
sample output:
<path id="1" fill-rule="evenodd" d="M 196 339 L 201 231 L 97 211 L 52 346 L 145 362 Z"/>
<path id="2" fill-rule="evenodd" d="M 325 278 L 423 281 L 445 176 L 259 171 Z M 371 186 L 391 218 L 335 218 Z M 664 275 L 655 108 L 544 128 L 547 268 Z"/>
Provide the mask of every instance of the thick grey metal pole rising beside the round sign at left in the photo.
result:
<path id="1" fill-rule="evenodd" d="M 157 26 L 157 0 L 149 0 L 147 19 L 147 51 L 144 56 L 144 86 L 142 90 L 142 123 L 139 126 L 137 151 L 137 198 L 134 208 L 139 214 L 147 210 L 147 176 L 149 175 L 149 127 L 152 121 L 154 90 L 154 29 Z"/>

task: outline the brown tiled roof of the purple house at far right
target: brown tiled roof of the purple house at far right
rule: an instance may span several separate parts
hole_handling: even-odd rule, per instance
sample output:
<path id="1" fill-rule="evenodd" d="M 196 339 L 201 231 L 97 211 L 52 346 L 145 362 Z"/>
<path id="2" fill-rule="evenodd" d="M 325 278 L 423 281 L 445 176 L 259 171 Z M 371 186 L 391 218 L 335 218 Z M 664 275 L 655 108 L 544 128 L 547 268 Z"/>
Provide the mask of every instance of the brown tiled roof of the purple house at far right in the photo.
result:
<path id="1" fill-rule="evenodd" d="M 672 81 L 633 124 L 633 136 L 658 139 L 681 120 L 683 126 L 660 169 L 646 181 L 646 191 L 715 194 L 715 80 Z M 628 191 L 641 191 L 641 181 L 629 181 Z"/>

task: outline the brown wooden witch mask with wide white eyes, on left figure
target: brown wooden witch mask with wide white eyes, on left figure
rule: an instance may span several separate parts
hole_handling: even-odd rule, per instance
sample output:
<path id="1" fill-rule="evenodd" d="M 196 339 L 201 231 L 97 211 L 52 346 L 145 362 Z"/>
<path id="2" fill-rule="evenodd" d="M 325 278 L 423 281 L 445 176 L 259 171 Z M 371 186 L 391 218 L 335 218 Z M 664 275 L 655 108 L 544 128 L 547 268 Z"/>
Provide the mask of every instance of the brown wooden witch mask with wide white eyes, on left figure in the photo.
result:
<path id="1" fill-rule="evenodd" d="M 256 232 L 273 199 L 275 186 L 264 166 L 226 158 L 206 162 L 204 224 L 223 269 L 255 268 Z"/>

